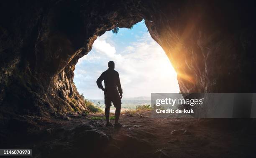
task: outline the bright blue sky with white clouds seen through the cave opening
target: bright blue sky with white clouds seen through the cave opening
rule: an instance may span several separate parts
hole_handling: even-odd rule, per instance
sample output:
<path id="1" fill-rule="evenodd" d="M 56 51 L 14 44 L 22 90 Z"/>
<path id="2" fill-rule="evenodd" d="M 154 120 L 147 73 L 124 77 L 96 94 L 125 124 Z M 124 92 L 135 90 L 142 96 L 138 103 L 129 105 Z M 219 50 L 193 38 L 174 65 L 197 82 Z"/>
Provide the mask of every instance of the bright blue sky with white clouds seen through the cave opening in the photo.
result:
<path id="1" fill-rule="evenodd" d="M 108 61 L 115 62 L 123 98 L 179 92 L 177 74 L 161 46 L 151 38 L 143 20 L 132 29 L 120 28 L 117 34 L 107 31 L 95 40 L 92 50 L 79 59 L 74 83 L 85 98 L 104 99 L 96 80 L 108 69 Z"/>

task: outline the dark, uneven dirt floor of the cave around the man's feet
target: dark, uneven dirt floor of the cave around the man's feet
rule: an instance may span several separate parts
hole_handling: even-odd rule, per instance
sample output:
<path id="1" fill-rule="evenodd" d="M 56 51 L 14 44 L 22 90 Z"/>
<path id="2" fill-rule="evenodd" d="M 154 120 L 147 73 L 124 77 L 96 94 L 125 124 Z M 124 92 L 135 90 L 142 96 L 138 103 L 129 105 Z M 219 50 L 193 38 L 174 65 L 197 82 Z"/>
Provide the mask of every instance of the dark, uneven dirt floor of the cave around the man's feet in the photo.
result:
<path id="1" fill-rule="evenodd" d="M 255 120 L 156 119 L 148 111 L 121 114 L 121 128 L 105 127 L 103 114 L 15 122 L 5 148 L 32 148 L 36 158 L 254 157 Z M 251 125 L 251 126 L 250 126 Z M 255 125 L 254 125 L 255 127 Z M 15 135 L 15 136 L 14 136 Z M 26 142 L 26 144 L 24 144 Z M 7 146 L 6 146 L 7 145 Z M 9 145 L 9 146 L 8 146 Z"/>

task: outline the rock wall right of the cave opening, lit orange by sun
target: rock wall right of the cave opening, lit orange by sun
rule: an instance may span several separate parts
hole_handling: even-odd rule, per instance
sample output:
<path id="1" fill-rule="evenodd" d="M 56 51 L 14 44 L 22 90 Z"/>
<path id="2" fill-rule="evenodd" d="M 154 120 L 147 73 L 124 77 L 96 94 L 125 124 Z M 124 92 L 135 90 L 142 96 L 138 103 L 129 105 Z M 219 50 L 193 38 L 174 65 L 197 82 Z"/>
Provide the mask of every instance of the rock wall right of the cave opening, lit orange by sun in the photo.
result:
<path id="1" fill-rule="evenodd" d="M 146 25 L 181 92 L 254 92 L 254 2 L 158 2 Z M 153 16 L 152 16 L 153 15 Z"/>

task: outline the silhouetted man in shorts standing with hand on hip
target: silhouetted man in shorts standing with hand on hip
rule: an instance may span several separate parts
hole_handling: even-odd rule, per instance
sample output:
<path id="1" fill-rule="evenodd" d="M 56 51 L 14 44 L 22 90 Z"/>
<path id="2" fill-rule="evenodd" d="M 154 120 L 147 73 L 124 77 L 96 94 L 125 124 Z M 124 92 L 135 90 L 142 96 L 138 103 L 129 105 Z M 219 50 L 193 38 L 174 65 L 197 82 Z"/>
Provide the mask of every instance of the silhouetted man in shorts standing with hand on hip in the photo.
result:
<path id="1" fill-rule="evenodd" d="M 123 97 L 123 90 L 121 88 L 120 79 L 118 71 L 115 71 L 114 61 L 108 62 L 108 70 L 104 71 L 100 77 L 97 79 L 97 86 L 104 91 L 105 99 L 105 116 L 107 124 L 106 126 L 112 126 L 109 120 L 110 106 L 113 102 L 115 109 L 115 126 L 121 127 L 122 125 L 118 123 L 120 112 L 121 112 L 121 98 Z M 102 86 L 102 81 L 104 81 L 105 89 Z"/>

